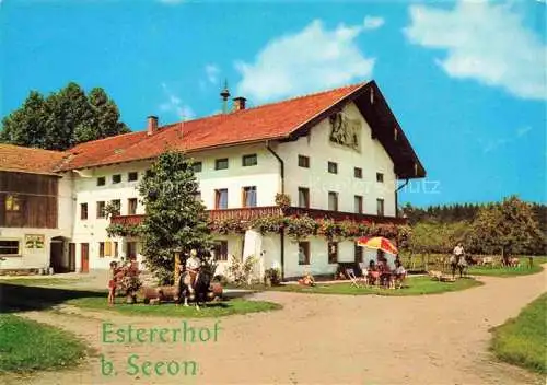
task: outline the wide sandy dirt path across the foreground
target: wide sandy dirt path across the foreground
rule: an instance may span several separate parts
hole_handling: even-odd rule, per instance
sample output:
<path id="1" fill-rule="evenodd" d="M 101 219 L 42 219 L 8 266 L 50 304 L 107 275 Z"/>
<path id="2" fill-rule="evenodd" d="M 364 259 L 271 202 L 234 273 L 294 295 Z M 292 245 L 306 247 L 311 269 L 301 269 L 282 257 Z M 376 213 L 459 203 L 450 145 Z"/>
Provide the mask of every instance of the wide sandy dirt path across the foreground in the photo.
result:
<path id="1" fill-rule="evenodd" d="M 546 270 L 517 278 L 482 278 L 486 284 L 479 288 L 410 298 L 266 292 L 256 298 L 282 303 L 284 308 L 222 318 L 217 342 L 194 345 L 105 345 L 101 313 L 24 313 L 77 332 L 112 360 L 118 374 L 102 375 L 100 360 L 93 358 L 77 370 L 11 380 L 70 385 L 545 384 L 545 378 L 497 362 L 488 352 L 488 330 L 516 316 L 544 292 L 546 278 Z M 182 322 L 107 317 L 117 326 L 147 328 L 172 328 Z M 212 328 L 216 320 L 187 322 Z M 133 353 L 140 362 L 194 360 L 199 374 L 130 376 L 127 359 Z"/>

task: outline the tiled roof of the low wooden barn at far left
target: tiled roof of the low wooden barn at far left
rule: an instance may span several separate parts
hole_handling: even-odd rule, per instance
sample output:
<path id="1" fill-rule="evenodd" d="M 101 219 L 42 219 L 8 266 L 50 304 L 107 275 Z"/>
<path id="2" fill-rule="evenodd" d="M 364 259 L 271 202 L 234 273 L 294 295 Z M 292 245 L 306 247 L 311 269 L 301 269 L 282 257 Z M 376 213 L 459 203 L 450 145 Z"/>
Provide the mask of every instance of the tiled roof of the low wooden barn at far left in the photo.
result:
<path id="1" fill-rule="evenodd" d="M 53 174 L 65 155 L 60 151 L 0 144 L 0 171 Z"/>

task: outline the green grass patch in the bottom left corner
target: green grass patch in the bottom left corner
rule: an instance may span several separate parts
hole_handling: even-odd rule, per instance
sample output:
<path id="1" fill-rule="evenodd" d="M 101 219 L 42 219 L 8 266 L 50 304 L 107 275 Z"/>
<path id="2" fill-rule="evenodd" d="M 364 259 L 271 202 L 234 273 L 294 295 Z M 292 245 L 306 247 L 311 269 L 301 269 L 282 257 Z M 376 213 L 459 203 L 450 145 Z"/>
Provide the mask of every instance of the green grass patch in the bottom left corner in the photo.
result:
<path id="1" fill-rule="evenodd" d="M 65 330 L 0 314 L 0 373 L 72 366 L 86 352 L 88 347 Z"/>

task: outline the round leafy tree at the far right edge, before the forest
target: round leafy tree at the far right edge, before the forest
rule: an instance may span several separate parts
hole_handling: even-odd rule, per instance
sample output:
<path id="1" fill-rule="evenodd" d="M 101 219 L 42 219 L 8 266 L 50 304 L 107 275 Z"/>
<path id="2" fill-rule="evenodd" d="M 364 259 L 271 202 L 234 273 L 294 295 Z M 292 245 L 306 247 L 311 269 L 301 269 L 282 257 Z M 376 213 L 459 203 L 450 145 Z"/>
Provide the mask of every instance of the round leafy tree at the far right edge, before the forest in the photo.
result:
<path id="1" fill-rule="evenodd" d="M 534 218 L 532 206 L 516 196 L 502 203 L 482 207 L 472 226 L 473 247 L 479 253 L 502 256 L 545 250 L 545 235 Z"/>

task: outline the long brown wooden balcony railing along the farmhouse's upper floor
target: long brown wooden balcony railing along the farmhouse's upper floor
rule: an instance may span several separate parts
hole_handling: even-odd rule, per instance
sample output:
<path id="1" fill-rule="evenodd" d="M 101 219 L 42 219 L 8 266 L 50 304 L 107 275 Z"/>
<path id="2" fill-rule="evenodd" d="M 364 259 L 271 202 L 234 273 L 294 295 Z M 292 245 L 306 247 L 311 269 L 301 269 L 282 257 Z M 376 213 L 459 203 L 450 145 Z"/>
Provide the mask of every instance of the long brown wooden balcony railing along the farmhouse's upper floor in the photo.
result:
<path id="1" fill-rule="evenodd" d="M 376 217 L 369 214 L 358 214 L 354 212 L 329 211 L 319 209 L 306 209 L 300 207 L 280 208 L 278 206 L 249 207 L 240 209 L 208 210 L 211 220 L 240 220 L 249 221 L 267 215 L 309 215 L 313 219 L 331 219 L 335 221 L 350 220 L 356 222 L 369 222 L 377 224 L 407 224 L 406 218 Z M 118 215 L 110 219 L 112 224 L 136 225 L 142 222 L 143 214 Z"/>

